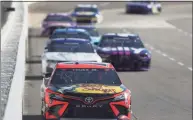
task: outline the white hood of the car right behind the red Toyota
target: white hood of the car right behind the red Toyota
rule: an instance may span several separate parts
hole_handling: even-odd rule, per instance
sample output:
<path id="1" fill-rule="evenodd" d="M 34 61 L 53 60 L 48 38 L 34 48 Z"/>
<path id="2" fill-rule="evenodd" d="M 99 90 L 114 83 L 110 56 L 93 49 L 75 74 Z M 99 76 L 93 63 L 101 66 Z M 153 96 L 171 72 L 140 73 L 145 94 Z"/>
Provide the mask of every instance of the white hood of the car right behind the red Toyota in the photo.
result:
<path id="1" fill-rule="evenodd" d="M 54 61 L 96 61 L 101 62 L 97 53 L 77 53 L 77 52 L 47 52 L 47 60 Z"/>

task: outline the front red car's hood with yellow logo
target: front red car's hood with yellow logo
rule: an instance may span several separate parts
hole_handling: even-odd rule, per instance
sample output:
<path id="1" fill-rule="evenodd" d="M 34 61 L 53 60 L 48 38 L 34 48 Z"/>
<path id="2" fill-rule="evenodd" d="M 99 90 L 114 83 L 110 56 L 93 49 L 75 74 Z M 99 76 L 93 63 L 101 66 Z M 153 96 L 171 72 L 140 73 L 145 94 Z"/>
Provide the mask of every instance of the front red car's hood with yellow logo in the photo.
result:
<path id="1" fill-rule="evenodd" d="M 102 84 L 75 84 L 65 87 L 50 86 L 53 91 L 65 93 L 116 94 L 126 90 L 124 85 L 109 86 Z"/>

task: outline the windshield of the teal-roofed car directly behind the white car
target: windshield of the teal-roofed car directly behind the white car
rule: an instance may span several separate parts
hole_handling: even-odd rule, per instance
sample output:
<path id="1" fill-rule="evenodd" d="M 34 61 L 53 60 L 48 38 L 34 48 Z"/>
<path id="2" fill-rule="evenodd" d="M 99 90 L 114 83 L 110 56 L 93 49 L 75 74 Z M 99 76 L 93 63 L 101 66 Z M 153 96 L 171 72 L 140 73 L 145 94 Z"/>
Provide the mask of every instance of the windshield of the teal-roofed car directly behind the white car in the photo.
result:
<path id="1" fill-rule="evenodd" d="M 56 32 L 53 33 L 50 38 L 80 38 L 91 40 L 90 36 L 83 32 Z"/>

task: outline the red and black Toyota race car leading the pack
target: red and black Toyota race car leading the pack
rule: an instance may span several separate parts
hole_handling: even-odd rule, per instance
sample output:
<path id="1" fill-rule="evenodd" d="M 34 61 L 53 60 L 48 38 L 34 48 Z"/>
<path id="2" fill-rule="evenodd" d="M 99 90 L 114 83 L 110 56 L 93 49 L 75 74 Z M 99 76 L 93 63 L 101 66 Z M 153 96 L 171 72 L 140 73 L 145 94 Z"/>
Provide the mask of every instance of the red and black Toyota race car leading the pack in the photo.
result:
<path id="1" fill-rule="evenodd" d="M 44 120 L 131 120 L 131 91 L 110 63 L 57 63 L 40 96 Z"/>

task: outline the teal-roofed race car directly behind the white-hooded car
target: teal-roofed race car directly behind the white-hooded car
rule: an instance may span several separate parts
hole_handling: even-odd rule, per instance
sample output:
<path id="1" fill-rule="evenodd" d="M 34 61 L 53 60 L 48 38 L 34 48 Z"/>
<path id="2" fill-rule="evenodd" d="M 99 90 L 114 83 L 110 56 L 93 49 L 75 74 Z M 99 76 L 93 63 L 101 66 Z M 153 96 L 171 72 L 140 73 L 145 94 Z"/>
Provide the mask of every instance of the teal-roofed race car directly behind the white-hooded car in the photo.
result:
<path id="1" fill-rule="evenodd" d="M 77 28 L 56 29 L 50 36 L 50 39 L 55 38 L 81 38 L 91 41 L 90 34 L 86 30 Z"/>

